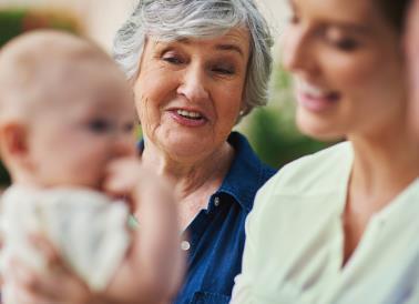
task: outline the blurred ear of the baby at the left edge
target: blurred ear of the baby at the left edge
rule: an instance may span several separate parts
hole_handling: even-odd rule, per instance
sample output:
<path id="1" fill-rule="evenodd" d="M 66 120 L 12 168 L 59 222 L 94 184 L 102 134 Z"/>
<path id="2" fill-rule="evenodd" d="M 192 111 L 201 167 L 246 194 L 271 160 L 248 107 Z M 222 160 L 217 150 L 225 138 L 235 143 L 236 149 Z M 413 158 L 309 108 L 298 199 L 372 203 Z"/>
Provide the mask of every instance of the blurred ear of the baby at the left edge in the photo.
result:
<path id="1" fill-rule="evenodd" d="M 2 154 L 7 159 L 25 162 L 28 158 L 28 131 L 24 124 L 9 122 L 0 128 Z"/>

